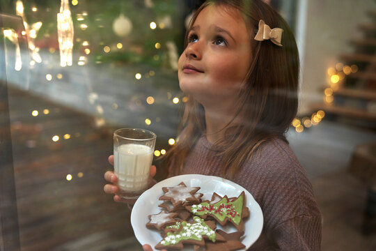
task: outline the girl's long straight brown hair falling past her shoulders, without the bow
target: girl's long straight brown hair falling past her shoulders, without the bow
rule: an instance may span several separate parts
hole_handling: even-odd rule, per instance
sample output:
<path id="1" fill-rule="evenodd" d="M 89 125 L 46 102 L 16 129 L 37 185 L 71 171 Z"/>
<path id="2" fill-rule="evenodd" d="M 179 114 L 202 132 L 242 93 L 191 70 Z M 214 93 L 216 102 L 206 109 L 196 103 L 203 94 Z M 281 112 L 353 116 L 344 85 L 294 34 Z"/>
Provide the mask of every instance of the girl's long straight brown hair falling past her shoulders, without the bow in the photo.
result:
<path id="1" fill-rule="evenodd" d="M 261 0 L 205 1 L 194 13 L 187 34 L 201 10 L 213 4 L 239 10 L 251 32 L 252 40 L 251 66 L 236 104 L 235 116 L 241 119 L 242 124 L 226 128 L 224 139 L 212 146 L 212 149 L 226 146 L 222 148 L 224 151 L 213 153 L 223 155 L 223 176 L 231 178 L 246 161 L 251 160 L 263 142 L 272 138 L 287 142 L 285 132 L 294 119 L 298 106 L 299 55 L 288 24 L 279 13 Z M 260 20 L 264 20 L 272 29 L 278 27 L 284 30 L 281 41 L 283 47 L 274 45 L 269 40 L 253 40 Z M 174 165 L 170 168 L 173 175 L 182 171 L 185 159 L 205 130 L 203 106 L 189 97 L 182 116 L 180 135 L 166 155 L 169 165 Z"/>

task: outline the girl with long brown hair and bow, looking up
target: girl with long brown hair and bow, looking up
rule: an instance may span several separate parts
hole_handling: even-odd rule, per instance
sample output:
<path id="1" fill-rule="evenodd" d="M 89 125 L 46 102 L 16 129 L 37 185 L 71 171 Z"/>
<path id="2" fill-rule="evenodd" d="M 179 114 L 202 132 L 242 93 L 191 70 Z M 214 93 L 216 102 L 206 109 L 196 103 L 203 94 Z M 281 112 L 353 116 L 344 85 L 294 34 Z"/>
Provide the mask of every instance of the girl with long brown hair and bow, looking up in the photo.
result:
<path id="1" fill-rule="evenodd" d="M 178 70 L 189 102 L 166 156 L 169 176 L 222 176 L 251 192 L 264 228 L 250 250 L 320 250 L 320 211 L 285 139 L 297 113 L 298 73 L 292 31 L 263 1 L 206 1 L 192 18 Z M 116 183 L 113 172 L 105 178 Z"/>

